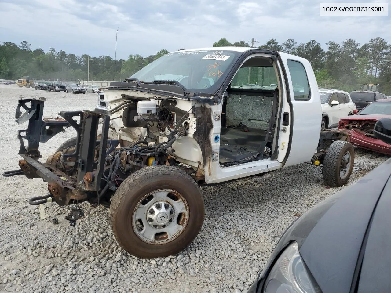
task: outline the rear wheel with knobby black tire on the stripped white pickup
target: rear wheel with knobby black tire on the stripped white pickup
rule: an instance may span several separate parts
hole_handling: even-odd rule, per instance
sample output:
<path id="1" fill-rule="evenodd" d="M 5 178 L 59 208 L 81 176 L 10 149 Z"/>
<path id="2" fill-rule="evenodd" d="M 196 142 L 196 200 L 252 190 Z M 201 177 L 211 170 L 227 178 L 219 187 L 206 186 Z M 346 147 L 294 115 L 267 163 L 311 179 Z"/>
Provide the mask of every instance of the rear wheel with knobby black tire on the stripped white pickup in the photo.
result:
<path id="1" fill-rule="evenodd" d="M 340 187 L 348 182 L 354 164 L 353 145 L 348 141 L 334 141 L 323 159 L 323 180 L 330 187 Z"/>

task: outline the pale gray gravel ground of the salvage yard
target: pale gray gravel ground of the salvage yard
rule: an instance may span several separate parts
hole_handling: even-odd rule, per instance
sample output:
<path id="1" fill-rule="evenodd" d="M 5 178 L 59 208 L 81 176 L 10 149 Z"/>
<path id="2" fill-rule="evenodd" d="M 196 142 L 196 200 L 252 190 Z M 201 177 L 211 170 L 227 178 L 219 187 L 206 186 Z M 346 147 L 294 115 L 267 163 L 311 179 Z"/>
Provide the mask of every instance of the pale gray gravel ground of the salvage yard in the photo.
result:
<path id="1" fill-rule="evenodd" d="M 2 172 L 18 168 L 19 98 L 44 96 L 44 116 L 93 109 L 97 95 L 72 95 L 0 85 L 3 109 Z M 72 130 L 41 144 L 46 159 Z M 5 143 L 6 142 L 6 143 Z M 357 150 L 349 183 L 388 157 Z M 220 186 L 202 188 L 205 221 L 193 243 L 178 255 L 138 259 L 117 245 L 108 210 L 83 204 L 76 227 L 64 219 L 70 207 L 46 205 L 39 218 L 31 197 L 47 194 L 41 179 L 0 177 L 0 293 L 3 292 L 241 292 L 262 270 L 282 232 L 296 218 L 342 188 L 326 188 L 322 170 L 300 164 Z M 51 223 L 58 218 L 59 225 Z"/>

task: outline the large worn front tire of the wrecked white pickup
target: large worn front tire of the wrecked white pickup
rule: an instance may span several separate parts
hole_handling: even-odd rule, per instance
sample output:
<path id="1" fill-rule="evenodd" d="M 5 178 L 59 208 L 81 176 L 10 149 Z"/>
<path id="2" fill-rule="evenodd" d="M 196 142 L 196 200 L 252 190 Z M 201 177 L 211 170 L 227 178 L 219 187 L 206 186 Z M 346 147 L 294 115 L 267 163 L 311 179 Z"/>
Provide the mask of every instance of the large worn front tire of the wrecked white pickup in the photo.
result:
<path id="1" fill-rule="evenodd" d="M 155 194 L 152 199 L 147 197 L 160 189 L 162 189 L 160 193 Z M 170 193 L 167 189 L 173 193 Z M 183 207 L 181 210 L 187 210 L 187 216 L 185 213 L 178 213 L 178 210 L 176 210 L 178 208 L 176 205 L 178 204 L 176 203 L 178 199 L 170 198 L 173 196 L 174 191 L 176 192 L 176 198 L 182 200 Z M 150 201 L 145 202 L 148 199 Z M 159 209 L 160 201 L 163 201 L 165 204 L 164 206 L 160 205 Z M 145 203 L 142 204 L 142 202 Z M 169 205 L 171 204 L 172 206 L 170 207 Z M 140 219 L 143 227 L 136 226 L 136 223 L 140 224 L 139 220 L 135 220 L 137 211 L 140 214 L 144 213 L 142 208 L 136 208 L 143 205 L 145 205 L 144 208 L 147 207 L 145 217 L 149 216 L 149 219 L 152 217 L 151 211 L 153 215 L 156 215 L 164 207 L 167 213 L 159 212 L 157 215 L 163 214 L 165 222 L 156 222 L 159 221 L 156 215 L 155 220 L 151 221 L 150 225 L 146 218 L 143 220 L 142 215 Z M 173 210 L 173 216 L 170 216 L 171 209 Z M 169 210 L 170 212 L 168 212 Z M 181 220 L 183 219 L 182 225 L 177 224 L 179 216 L 181 216 Z M 111 198 L 110 220 L 115 239 L 129 254 L 141 258 L 175 255 L 187 247 L 201 229 L 204 220 L 204 202 L 201 190 L 195 181 L 179 168 L 167 165 L 142 168 L 127 177 Z M 161 218 L 160 221 L 162 221 Z M 152 227 L 153 223 L 167 224 L 159 228 L 156 225 L 154 228 Z M 172 224 L 174 226 L 171 227 L 177 228 L 179 231 L 171 230 L 169 227 Z M 183 225 L 185 226 L 183 227 Z M 156 233 L 159 231 L 164 232 L 166 227 L 174 235 L 176 233 L 176 235 L 170 240 L 156 240 Z M 141 234 L 139 229 L 151 231 L 150 241 L 143 240 L 141 235 L 138 236 L 138 234 Z M 166 233 L 166 236 L 169 237 L 169 234 Z"/>

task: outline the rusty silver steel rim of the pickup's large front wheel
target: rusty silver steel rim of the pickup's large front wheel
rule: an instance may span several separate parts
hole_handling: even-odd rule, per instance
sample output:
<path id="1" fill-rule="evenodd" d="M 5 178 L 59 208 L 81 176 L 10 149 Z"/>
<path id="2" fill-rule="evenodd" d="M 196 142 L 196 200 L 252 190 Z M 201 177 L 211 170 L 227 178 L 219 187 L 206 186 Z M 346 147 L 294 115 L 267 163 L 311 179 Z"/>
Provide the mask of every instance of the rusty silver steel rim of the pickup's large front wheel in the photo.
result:
<path id="1" fill-rule="evenodd" d="M 178 191 L 157 189 L 137 203 L 132 216 L 133 231 L 145 243 L 169 243 L 183 233 L 189 214 L 187 200 Z"/>

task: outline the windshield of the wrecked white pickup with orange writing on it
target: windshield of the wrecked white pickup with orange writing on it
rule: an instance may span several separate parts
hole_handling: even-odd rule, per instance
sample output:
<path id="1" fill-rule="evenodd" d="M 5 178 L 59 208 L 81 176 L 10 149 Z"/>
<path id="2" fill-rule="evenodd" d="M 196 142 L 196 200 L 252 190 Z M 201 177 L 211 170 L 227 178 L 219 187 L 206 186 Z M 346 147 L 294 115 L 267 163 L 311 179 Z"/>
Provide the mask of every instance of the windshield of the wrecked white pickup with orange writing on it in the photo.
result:
<path id="1" fill-rule="evenodd" d="M 241 52 L 222 50 L 180 51 L 149 63 L 129 78 L 143 82 L 177 80 L 190 91 L 213 93 Z"/>

